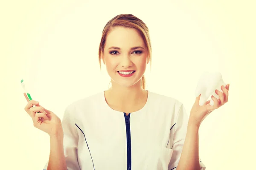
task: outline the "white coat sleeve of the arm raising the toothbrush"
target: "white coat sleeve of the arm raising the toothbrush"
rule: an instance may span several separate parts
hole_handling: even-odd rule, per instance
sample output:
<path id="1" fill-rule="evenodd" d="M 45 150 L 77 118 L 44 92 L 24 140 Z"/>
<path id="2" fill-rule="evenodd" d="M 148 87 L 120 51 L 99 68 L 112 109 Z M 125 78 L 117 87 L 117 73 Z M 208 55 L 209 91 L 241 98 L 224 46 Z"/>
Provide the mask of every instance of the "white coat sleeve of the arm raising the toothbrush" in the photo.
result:
<path id="1" fill-rule="evenodd" d="M 77 157 L 77 145 L 79 136 L 76 131 L 74 112 L 72 112 L 72 110 L 74 109 L 71 109 L 71 106 L 68 106 L 64 111 L 64 116 L 62 119 L 62 127 L 64 132 L 64 155 L 67 164 L 67 170 L 80 170 Z M 48 162 L 45 164 L 44 170 L 47 170 Z"/>

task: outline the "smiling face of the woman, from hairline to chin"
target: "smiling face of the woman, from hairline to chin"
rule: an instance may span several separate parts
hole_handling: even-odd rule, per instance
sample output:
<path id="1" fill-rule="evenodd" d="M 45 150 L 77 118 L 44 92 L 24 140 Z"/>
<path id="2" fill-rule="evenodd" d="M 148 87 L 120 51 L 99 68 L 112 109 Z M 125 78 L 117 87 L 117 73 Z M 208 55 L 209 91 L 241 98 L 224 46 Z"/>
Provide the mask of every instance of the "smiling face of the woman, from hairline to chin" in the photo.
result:
<path id="1" fill-rule="evenodd" d="M 135 29 L 114 28 L 108 34 L 102 55 L 112 86 L 113 83 L 125 87 L 140 86 L 148 64 L 147 55 L 147 47 Z"/>

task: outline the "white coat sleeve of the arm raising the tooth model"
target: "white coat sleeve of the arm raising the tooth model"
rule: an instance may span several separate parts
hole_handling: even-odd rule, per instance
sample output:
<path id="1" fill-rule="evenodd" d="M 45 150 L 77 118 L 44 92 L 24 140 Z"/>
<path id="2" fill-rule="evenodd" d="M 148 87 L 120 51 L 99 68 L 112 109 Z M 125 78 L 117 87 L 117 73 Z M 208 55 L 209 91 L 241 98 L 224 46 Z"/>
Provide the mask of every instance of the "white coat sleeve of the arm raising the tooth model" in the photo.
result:
<path id="1" fill-rule="evenodd" d="M 177 117 L 175 121 L 176 123 L 174 125 L 174 128 L 172 128 L 172 130 L 174 130 L 173 145 L 172 145 L 173 154 L 172 154 L 171 161 L 169 163 L 169 170 L 175 170 L 180 161 L 182 148 L 186 138 L 188 120 L 189 119 L 188 119 L 188 115 L 186 114 L 185 107 L 183 104 L 181 104 L 180 109 L 177 113 Z M 206 170 L 206 167 L 201 161 L 200 157 L 199 157 L 199 164 L 201 168 L 200 170 Z"/>

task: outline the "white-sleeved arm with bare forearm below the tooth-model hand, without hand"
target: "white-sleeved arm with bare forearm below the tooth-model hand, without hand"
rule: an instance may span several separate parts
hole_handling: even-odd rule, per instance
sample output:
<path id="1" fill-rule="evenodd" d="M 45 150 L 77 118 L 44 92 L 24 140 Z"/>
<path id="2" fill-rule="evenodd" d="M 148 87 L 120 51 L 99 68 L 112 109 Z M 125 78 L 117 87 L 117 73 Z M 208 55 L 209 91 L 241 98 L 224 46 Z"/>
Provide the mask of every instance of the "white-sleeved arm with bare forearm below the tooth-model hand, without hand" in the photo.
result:
<path id="1" fill-rule="evenodd" d="M 172 145 L 174 151 L 169 164 L 170 169 L 205 170 L 206 166 L 198 154 L 199 126 L 195 126 L 191 117 L 188 118 L 184 105 L 181 105 L 177 111 L 175 122 L 172 129 L 174 130 Z"/>

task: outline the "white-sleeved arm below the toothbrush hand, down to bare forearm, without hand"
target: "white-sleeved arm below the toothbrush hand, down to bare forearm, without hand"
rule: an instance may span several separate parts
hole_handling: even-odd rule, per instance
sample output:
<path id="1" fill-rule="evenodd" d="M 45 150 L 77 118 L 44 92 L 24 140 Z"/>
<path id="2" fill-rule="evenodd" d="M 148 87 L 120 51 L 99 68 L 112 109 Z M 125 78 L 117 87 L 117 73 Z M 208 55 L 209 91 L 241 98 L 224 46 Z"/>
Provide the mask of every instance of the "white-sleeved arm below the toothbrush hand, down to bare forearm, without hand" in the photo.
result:
<path id="1" fill-rule="evenodd" d="M 74 107 L 69 106 L 64 111 L 59 133 L 50 136 L 50 156 L 44 170 L 80 170 L 78 140 Z"/>

